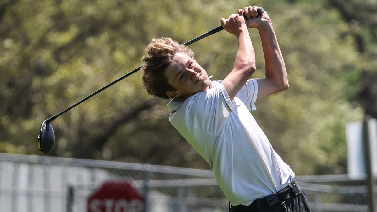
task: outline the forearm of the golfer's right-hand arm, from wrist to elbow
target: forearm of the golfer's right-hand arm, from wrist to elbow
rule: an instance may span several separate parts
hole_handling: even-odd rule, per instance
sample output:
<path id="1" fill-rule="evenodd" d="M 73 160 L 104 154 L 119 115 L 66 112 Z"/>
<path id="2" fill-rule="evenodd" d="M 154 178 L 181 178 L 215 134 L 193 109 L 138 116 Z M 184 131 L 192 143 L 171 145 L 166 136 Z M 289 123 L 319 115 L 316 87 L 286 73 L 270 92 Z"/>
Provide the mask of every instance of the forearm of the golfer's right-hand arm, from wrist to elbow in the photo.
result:
<path id="1" fill-rule="evenodd" d="M 288 88 L 288 77 L 272 23 L 264 23 L 258 30 L 265 58 L 265 78 L 270 80 L 279 91 L 283 91 Z"/>

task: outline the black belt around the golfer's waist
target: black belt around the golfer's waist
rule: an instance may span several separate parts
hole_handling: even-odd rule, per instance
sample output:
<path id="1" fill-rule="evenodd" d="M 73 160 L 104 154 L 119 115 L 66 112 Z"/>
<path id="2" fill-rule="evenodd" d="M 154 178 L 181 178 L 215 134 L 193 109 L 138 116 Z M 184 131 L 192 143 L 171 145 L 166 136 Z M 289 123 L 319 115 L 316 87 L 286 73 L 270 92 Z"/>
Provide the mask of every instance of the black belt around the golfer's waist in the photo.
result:
<path id="1" fill-rule="evenodd" d="M 231 206 L 230 211 L 234 212 L 249 212 L 261 208 L 268 208 L 273 206 L 277 203 L 283 203 L 290 197 L 296 196 L 300 193 L 299 187 L 297 186 L 296 180 L 292 180 L 288 186 L 284 187 L 284 189 L 280 190 L 277 193 L 271 194 L 267 197 L 256 199 L 248 206 L 245 205 L 235 205 Z"/>

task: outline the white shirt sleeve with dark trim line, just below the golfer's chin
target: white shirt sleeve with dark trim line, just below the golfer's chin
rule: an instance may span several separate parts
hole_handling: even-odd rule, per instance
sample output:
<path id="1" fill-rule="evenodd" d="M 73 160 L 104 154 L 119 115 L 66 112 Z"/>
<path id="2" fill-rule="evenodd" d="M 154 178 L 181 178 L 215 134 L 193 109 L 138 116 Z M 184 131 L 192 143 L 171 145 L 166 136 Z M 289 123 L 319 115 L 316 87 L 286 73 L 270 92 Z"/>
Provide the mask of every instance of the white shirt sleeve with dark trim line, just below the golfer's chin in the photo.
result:
<path id="1" fill-rule="evenodd" d="M 193 95 L 187 107 L 193 126 L 213 135 L 221 132 L 234 109 L 224 85 L 216 83 L 216 87 Z"/>

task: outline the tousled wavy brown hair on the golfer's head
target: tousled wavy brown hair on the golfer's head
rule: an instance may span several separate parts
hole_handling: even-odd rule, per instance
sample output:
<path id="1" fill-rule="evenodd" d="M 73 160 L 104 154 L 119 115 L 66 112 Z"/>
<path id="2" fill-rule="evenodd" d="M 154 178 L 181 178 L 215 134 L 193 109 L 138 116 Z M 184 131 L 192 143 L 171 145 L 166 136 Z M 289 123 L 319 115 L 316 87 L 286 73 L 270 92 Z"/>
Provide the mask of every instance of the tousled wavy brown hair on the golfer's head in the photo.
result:
<path id="1" fill-rule="evenodd" d="M 143 56 L 143 85 L 148 94 L 168 99 L 166 91 L 176 91 L 170 85 L 165 75 L 176 53 L 184 53 L 194 58 L 194 52 L 185 45 L 181 45 L 172 38 L 153 38 L 146 48 L 147 56 Z"/>

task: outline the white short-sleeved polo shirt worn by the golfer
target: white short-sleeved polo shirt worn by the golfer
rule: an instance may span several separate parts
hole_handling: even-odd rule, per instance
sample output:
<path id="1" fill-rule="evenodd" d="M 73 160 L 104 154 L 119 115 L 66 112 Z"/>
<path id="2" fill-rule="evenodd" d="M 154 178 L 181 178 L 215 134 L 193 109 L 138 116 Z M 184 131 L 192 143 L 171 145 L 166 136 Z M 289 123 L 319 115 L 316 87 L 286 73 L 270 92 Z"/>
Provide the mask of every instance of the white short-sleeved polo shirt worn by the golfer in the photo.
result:
<path id="1" fill-rule="evenodd" d="M 294 178 L 250 111 L 258 84 L 248 80 L 233 101 L 221 81 L 212 88 L 167 104 L 170 123 L 210 164 L 232 205 L 249 205 L 287 186 Z"/>

